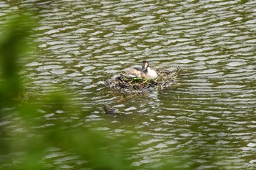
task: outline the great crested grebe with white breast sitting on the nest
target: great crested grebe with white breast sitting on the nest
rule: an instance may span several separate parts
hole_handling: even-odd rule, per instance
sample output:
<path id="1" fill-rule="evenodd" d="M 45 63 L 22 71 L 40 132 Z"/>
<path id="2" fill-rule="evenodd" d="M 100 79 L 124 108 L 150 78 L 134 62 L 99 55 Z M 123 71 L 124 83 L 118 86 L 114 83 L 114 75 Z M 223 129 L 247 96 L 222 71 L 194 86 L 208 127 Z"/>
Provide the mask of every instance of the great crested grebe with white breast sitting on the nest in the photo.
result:
<path id="1" fill-rule="evenodd" d="M 142 68 L 135 67 L 129 71 L 129 75 L 146 79 L 156 79 L 157 72 L 149 68 L 148 61 L 142 61 Z"/>

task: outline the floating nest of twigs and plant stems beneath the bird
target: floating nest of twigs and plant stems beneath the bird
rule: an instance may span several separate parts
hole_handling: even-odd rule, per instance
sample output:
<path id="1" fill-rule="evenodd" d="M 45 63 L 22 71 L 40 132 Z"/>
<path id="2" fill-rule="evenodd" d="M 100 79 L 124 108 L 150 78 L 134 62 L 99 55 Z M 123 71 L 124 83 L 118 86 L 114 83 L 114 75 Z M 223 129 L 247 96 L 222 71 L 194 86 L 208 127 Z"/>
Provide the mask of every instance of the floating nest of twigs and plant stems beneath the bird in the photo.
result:
<path id="1" fill-rule="evenodd" d="M 154 90 L 163 90 L 170 87 L 175 82 L 178 67 L 173 70 L 154 69 L 157 72 L 157 79 L 147 80 L 140 77 L 129 77 L 127 72 L 121 72 L 117 77 L 105 81 L 105 85 L 114 92 L 123 93 L 143 93 Z"/>

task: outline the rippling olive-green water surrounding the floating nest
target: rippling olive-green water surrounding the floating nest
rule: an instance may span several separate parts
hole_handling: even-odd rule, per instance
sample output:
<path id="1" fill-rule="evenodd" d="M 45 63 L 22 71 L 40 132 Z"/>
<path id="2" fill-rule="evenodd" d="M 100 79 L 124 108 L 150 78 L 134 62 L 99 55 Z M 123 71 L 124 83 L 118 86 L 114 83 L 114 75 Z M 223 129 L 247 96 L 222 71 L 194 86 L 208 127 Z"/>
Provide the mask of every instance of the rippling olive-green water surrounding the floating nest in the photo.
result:
<path id="1" fill-rule="evenodd" d="M 141 141 L 133 166 L 178 158 L 195 169 L 256 168 L 256 1 L 3 1 L 0 23 L 25 7 L 40 23 L 35 58 L 25 61 L 29 90 L 69 88 L 74 103 L 89 110 L 80 126 L 100 121 L 99 131 L 115 135 L 134 127 Z M 160 92 L 122 95 L 105 87 L 144 59 L 184 73 Z M 101 115 L 106 103 L 127 116 Z M 57 149 L 48 158 L 61 169 L 80 165 Z"/>

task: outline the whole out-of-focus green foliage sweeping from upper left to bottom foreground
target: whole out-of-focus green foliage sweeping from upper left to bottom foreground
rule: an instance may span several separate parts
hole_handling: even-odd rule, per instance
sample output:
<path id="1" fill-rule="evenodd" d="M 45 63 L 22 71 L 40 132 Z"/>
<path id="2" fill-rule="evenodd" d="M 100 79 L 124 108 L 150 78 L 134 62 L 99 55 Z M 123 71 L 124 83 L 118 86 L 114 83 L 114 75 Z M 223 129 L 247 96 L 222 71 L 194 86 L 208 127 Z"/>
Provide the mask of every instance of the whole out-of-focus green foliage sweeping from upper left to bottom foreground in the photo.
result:
<path id="1" fill-rule="evenodd" d="M 20 58 L 26 56 L 28 37 L 33 28 L 28 15 L 20 12 L 7 23 L 0 36 L 0 123 L 10 120 L 10 125 L 0 126 L 0 156 L 7 156 L 0 161 L 0 169 L 52 169 L 44 166 L 45 150 L 58 147 L 67 150 L 81 159 L 88 161 L 91 169 L 130 169 L 125 159 L 125 148 L 101 133 L 89 128 L 70 128 L 57 117 L 50 128 L 42 113 L 61 110 L 61 115 L 69 116 L 79 109 L 69 102 L 66 93 L 49 93 L 41 99 L 27 98 L 20 77 Z M 26 96 L 26 102 L 24 101 Z M 35 102 L 37 101 L 37 102 Z M 10 128 L 11 127 L 11 128 Z M 67 128 L 69 127 L 69 128 Z M 20 155 L 15 155 L 20 153 Z M 18 160 L 16 163 L 15 160 Z M 3 165 L 1 165 L 3 163 Z"/>

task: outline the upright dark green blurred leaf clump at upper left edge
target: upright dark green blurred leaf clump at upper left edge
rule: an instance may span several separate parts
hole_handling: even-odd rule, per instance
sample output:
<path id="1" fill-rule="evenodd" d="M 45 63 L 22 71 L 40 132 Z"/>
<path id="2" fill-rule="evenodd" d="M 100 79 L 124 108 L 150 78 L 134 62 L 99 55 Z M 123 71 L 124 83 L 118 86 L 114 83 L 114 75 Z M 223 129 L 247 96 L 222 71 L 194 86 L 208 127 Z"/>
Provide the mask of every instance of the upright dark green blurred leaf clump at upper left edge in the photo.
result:
<path id="1" fill-rule="evenodd" d="M 21 93 L 20 82 L 21 57 L 29 51 L 26 39 L 34 24 L 31 16 L 19 13 L 1 30 L 0 36 L 0 108 L 1 104 L 12 104 Z"/>

